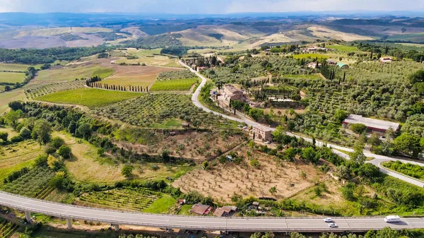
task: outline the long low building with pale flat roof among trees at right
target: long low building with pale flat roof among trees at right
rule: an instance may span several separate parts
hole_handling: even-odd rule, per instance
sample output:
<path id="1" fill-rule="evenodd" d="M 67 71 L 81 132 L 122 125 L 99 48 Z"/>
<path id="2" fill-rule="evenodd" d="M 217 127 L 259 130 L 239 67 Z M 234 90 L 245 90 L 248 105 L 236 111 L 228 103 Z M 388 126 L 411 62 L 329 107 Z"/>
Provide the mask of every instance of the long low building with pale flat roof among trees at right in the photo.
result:
<path id="1" fill-rule="evenodd" d="M 350 124 L 364 124 L 367 126 L 367 130 L 370 133 L 377 132 L 380 135 L 384 135 L 389 128 L 394 131 L 399 129 L 399 123 L 366 118 L 357 114 L 350 114 L 349 117 L 343 121 L 343 128 L 348 128 Z"/>

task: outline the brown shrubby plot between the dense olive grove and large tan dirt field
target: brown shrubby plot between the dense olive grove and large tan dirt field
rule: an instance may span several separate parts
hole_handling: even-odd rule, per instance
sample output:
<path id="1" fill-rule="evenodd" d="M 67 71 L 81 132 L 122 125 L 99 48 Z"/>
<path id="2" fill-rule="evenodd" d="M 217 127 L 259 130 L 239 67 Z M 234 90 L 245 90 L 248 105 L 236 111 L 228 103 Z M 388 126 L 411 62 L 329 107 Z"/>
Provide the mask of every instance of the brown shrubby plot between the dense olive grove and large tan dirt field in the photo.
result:
<path id="1" fill-rule="evenodd" d="M 242 143 L 242 136 L 228 136 L 224 138 L 218 133 L 196 132 L 181 133 L 175 136 L 165 138 L 155 145 L 140 145 L 120 141 L 119 147 L 132 148 L 140 153 L 148 153 L 158 155 L 163 150 L 169 150 L 170 155 L 183 157 L 195 162 L 203 162 L 204 160 L 216 157 L 218 148 L 221 152 L 225 152 Z"/>

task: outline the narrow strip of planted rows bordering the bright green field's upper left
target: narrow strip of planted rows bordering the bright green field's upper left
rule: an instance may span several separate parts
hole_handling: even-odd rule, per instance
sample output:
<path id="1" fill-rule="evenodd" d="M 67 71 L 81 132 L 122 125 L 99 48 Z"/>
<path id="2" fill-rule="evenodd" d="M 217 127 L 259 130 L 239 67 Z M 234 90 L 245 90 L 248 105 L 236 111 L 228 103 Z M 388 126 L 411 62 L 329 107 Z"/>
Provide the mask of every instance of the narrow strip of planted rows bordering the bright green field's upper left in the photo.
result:
<path id="1" fill-rule="evenodd" d="M 50 93 L 57 93 L 64 90 L 83 88 L 84 85 L 86 85 L 86 81 L 69 81 L 63 83 L 35 85 L 25 90 L 25 96 L 28 99 L 34 99 L 35 97 L 41 97 L 42 95 L 47 95 Z"/>

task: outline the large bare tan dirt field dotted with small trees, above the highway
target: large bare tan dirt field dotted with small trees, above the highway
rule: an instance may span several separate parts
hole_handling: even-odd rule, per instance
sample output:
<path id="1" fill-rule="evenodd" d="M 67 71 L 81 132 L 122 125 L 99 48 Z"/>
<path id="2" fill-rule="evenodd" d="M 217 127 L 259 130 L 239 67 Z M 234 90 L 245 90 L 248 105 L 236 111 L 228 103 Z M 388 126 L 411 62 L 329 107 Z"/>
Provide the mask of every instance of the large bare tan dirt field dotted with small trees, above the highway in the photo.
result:
<path id="1" fill-rule="evenodd" d="M 301 161 L 276 162 L 269 155 L 252 151 L 250 148 L 237 149 L 238 155 L 243 156 L 245 165 L 236 165 L 227 162 L 225 165 L 217 162 L 211 170 L 195 169 L 192 172 L 177 179 L 172 185 L 179 187 L 183 192 L 197 190 L 205 196 L 230 203 L 233 194 L 242 196 L 266 196 L 273 198 L 285 198 L 293 196 L 313 185 L 312 180 L 324 174 L 319 174 L 311 165 L 305 165 Z M 249 163 L 250 158 L 259 160 L 259 168 L 255 169 Z M 307 174 L 306 179 L 300 176 L 303 171 Z M 290 184 L 294 186 L 290 186 Z M 276 186 L 277 192 L 272 195 L 269 189 Z"/>

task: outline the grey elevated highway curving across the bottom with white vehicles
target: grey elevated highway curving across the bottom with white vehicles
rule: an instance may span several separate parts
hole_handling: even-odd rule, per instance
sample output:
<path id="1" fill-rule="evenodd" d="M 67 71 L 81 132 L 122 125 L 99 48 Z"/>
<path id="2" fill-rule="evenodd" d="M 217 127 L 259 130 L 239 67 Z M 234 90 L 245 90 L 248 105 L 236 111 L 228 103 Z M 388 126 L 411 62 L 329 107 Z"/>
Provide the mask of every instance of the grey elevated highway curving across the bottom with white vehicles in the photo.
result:
<path id="1" fill-rule="evenodd" d="M 216 230 L 229 232 L 340 232 L 424 228 L 424 218 L 401 218 L 401 222 L 387 223 L 383 218 L 334 218 L 338 225 L 329 227 L 322 218 L 215 218 L 179 215 L 129 213 L 114 210 L 84 208 L 61 203 L 51 203 L 0 192 L 0 205 L 18 210 L 52 215 L 57 218 L 90 220 L 114 225 L 139 225 L 164 229 Z"/>

